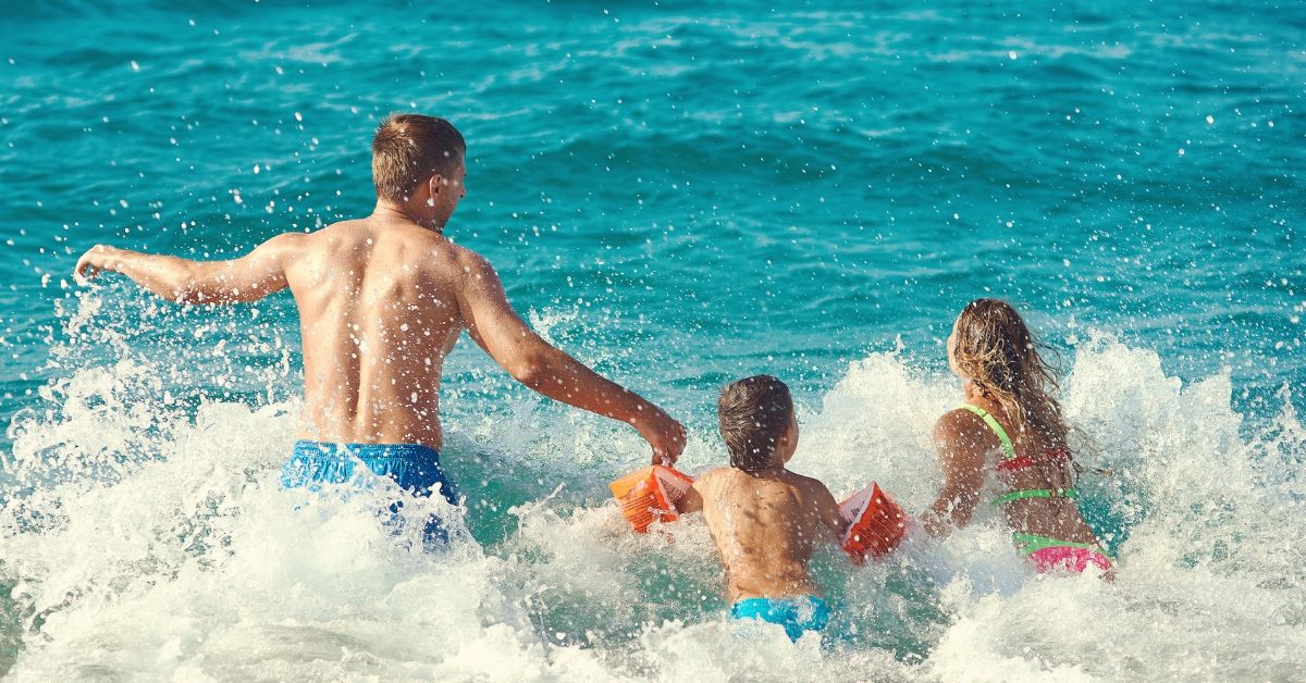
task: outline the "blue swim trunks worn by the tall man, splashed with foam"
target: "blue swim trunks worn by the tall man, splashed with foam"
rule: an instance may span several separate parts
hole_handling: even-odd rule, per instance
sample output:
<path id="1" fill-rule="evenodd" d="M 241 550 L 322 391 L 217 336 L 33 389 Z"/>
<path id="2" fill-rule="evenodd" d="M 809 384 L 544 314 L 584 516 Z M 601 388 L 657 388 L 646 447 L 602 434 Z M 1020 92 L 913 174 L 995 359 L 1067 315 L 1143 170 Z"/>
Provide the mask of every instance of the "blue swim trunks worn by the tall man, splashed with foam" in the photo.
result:
<path id="1" fill-rule="evenodd" d="M 360 471 L 359 466 L 368 471 Z M 320 491 L 323 484 L 350 483 L 358 488 L 370 488 L 376 477 L 389 477 L 410 495 L 427 498 L 436 488 L 451 505 L 458 504 L 458 494 L 440 468 L 440 453 L 421 444 L 336 444 L 329 441 L 295 441 L 290 460 L 281 469 L 282 488 L 307 488 Z M 402 500 L 388 507 L 385 525 L 396 533 L 405 524 L 401 511 Z M 448 541 L 440 518 L 428 515 L 424 520 L 422 539 L 430 548 Z"/>

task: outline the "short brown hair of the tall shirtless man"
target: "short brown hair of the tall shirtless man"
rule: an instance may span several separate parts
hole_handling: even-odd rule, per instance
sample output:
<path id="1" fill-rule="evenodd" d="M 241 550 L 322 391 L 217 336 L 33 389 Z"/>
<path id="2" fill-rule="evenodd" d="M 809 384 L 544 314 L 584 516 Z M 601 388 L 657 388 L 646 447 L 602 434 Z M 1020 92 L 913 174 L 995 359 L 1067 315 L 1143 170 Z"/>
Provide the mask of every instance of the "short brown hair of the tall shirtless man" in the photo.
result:
<path id="1" fill-rule="evenodd" d="M 422 114 L 387 116 L 372 138 L 376 196 L 407 201 L 418 183 L 452 174 L 466 150 L 462 133 L 444 119 Z"/>

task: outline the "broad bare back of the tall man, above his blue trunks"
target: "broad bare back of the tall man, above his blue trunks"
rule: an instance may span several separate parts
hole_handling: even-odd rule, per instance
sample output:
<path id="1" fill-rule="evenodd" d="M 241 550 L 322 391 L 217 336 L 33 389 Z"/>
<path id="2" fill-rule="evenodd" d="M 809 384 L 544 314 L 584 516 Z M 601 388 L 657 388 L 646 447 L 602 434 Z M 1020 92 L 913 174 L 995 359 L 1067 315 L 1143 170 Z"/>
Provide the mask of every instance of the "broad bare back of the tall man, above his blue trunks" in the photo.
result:
<path id="1" fill-rule="evenodd" d="M 296 236 L 286 281 L 304 347 L 302 436 L 439 449 L 444 357 L 478 257 L 443 235 L 375 218 Z"/>

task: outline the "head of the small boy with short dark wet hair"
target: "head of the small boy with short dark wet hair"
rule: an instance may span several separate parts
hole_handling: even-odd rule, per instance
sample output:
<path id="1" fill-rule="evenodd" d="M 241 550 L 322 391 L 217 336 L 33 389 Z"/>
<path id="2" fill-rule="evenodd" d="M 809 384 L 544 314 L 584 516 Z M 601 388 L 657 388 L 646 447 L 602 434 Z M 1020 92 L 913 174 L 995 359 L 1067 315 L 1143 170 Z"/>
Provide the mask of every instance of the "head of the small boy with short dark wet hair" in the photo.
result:
<path id="1" fill-rule="evenodd" d="M 771 466 L 793 415 L 794 400 L 778 377 L 755 375 L 721 389 L 717 417 L 730 465 L 748 473 Z"/>

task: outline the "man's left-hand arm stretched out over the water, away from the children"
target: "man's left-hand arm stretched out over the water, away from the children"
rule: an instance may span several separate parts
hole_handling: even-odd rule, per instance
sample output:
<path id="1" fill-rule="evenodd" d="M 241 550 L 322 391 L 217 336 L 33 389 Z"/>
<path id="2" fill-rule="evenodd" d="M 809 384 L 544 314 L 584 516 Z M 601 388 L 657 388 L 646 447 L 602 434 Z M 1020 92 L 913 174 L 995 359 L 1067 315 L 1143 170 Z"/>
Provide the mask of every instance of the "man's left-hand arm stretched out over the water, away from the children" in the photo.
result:
<path id="1" fill-rule="evenodd" d="M 191 261 L 97 244 L 77 260 L 73 276 L 121 273 L 151 293 L 182 304 L 256 302 L 286 287 L 286 255 L 302 235 L 287 232 L 230 261 Z"/>

